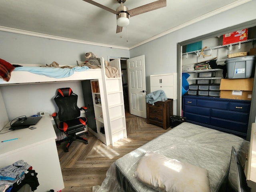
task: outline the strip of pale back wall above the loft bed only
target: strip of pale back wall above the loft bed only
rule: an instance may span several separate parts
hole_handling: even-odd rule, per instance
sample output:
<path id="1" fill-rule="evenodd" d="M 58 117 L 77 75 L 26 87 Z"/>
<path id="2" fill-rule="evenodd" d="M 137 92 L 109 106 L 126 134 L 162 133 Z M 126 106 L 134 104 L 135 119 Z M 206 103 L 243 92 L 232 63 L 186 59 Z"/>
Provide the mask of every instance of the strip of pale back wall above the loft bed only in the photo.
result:
<path id="1" fill-rule="evenodd" d="M 129 50 L 94 46 L 33 37 L 0 31 L 0 58 L 19 64 L 76 65 L 76 61 L 85 61 L 84 54 L 93 52 L 105 60 L 108 56 L 129 57 Z M 3 46 L 4 45 L 4 46 Z"/>

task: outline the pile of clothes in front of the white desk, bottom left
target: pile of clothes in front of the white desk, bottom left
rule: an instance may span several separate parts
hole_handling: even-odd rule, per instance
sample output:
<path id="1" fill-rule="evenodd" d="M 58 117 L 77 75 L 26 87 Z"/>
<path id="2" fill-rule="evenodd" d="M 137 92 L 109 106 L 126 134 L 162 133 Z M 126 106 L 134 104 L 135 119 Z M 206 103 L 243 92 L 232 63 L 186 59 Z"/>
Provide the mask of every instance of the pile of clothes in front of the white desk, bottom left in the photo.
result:
<path id="1" fill-rule="evenodd" d="M 25 184 L 29 184 L 31 190 L 34 191 L 39 186 L 36 175 L 32 166 L 24 160 L 0 168 L 0 191 L 16 192 Z"/>

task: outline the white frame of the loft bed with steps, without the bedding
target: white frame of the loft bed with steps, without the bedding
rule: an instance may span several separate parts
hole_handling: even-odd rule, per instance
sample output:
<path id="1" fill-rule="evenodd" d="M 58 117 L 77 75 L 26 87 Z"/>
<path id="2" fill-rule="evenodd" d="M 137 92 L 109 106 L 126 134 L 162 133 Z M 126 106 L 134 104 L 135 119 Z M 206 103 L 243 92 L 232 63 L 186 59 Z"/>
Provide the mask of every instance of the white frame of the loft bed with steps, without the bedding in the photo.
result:
<path id="1" fill-rule="evenodd" d="M 40 66 L 27 64 L 22 66 Z M 100 69 L 89 69 L 83 72 L 74 72 L 67 78 L 51 78 L 44 75 L 38 75 L 26 71 L 13 71 L 9 82 L 0 79 L 0 86 L 12 86 L 17 84 L 40 84 L 54 82 L 74 82 L 82 80 L 95 80 L 99 82 L 100 98 L 102 103 L 102 115 L 104 119 L 105 134 L 91 130 L 91 132 L 106 145 L 113 145 L 114 142 L 121 138 L 127 138 L 126 121 L 124 112 L 124 100 L 122 90 L 121 64 L 120 59 L 110 62 L 110 66 L 116 67 L 120 77 L 108 78 L 105 75 L 104 59 L 101 58 Z M 0 103 L 4 103 L 2 93 L 0 92 Z M 7 113 L 6 113 L 7 116 Z M 0 125 L 2 121 L 0 119 Z M 8 122 L 9 120 L 6 120 Z M 90 130 L 90 128 L 89 128 Z"/>

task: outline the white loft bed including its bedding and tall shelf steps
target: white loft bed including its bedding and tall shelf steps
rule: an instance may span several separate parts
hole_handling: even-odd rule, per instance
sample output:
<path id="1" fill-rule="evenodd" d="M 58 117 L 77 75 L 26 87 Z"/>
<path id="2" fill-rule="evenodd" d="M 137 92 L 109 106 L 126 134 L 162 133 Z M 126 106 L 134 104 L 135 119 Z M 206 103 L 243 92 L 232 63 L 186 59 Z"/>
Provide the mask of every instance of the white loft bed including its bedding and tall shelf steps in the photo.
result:
<path id="1" fill-rule="evenodd" d="M 27 64 L 24 67 L 16 67 L 2 59 L 0 59 L 0 86 L 19 85 L 19 84 L 37 84 L 37 83 L 54 83 L 54 82 L 75 82 L 83 80 L 97 80 L 101 104 L 96 105 L 97 110 L 94 114 L 98 117 L 98 113 L 103 118 L 96 119 L 96 127 L 104 126 L 105 134 L 100 130 L 97 132 L 92 130 L 97 138 L 104 144 L 114 144 L 116 140 L 127 137 L 124 113 L 124 101 L 122 92 L 122 77 L 120 60 L 112 60 L 107 66 L 104 59 L 100 58 L 100 66 L 72 66 L 72 68 L 54 68 L 39 67 L 34 64 Z M 8 69 L 6 66 L 9 66 Z M 91 66 L 90 66 L 91 67 Z M 60 75 L 64 74 L 65 77 Z M 63 72 L 64 71 L 64 72 Z M 7 72 L 9 72 L 7 74 Z M 95 93 L 91 93 L 95 94 Z M 0 104 L 4 103 L 0 92 Z M 118 115 L 112 111 L 118 111 Z M 7 113 L 6 113 L 7 116 Z M 1 123 L 1 122 L 0 122 Z M 91 131 L 90 127 L 89 130 Z"/>

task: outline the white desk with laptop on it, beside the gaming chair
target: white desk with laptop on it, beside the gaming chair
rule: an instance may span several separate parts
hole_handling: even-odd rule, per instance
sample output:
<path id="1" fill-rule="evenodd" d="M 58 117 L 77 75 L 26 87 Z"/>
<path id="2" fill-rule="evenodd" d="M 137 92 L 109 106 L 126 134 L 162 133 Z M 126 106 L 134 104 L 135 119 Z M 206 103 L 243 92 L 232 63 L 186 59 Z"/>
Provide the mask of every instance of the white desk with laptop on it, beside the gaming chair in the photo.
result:
<path id="1" fill-rule="evenodd" d="M 38 173 L 40 185 L 36 191 L 61 190 L 64 188 L 64 182 L 55 143 L 56 134 L 49 114 L 42 116 L 35 127 L 34 130 L 25 128 L 0 134 L 0 141 L 19 138 L 0 142 L 0 167 L 22 159 Z M 6 131 L 8 128 L 2 132 Z"/>

